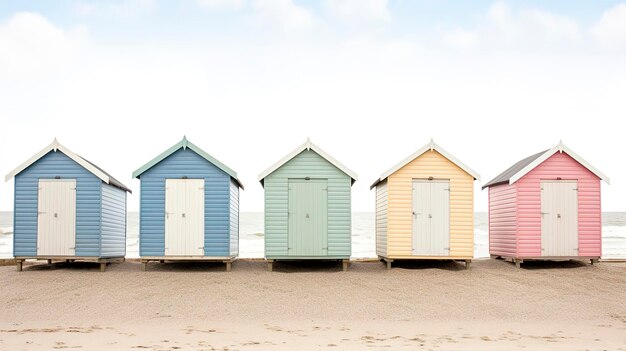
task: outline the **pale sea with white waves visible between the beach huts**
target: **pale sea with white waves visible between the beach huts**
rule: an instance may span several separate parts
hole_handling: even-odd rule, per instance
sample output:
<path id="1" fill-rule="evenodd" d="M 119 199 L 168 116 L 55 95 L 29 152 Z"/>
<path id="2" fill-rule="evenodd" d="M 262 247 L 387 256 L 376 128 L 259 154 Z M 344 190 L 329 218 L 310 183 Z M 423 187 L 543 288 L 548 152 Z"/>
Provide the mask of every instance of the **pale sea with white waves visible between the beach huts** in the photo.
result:
<path id="1" fill-rule="evenodd" d="M 139 257 L 139 213 L 128 213 L 126 257 Z M 352 214 L 352 257 L 376 257 L 375 217 L 373 212 Z M 489 257 L 486 212 L 474 214 L 474 257 Z M 242 212 L 239 216 L 239 257 L 263 257 L 263 213 Z M 626 212 L 602 214 L 603 258 L 626 258 Z M 0 258 L 13 256 L 13 214 L 0 212 Z"/>

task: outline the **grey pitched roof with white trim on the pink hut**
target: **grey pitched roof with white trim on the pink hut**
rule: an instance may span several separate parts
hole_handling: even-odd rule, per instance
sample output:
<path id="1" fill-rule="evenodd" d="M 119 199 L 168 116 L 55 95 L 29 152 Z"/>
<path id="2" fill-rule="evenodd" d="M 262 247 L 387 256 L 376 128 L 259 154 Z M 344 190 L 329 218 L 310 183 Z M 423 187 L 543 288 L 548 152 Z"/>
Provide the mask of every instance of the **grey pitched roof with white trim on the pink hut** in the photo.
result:
<path id="1" fill-rule="evenodd" d="M 549 150 L 542 151 L 540 153 L 534 154 L 532 156 L 528 156 L 525 159 L 517 162 L 513 166 L 509 167 L 507 170 L 502 172 L 500 175 L 487 182 L 487 184 L 483 185 L 483 189 L 500 184 L 513 184 L 518 181 L 520 178 L 528 174 L 528 172 L 532 171 L 535 167 L 539 166 L 543 161 L 547 160 L 550 156 L 554 155 L 557 152 L 565 152 L 571 158 L 576 160 L 576 162 L 583 165 L 583 167 L 587 168 L 591 173 L 598 176 L 598 178 L 604 180 L 607 184 L 609 184 L 609 178 L 600 172 L 598 169 L 590 165 L 587 161 L 585 161 L 582 157 L 578 156 L 574 151 L 572 151 L 567 146 L 563 145 L 563 142 L 559 142 L 555 147 Z"/>

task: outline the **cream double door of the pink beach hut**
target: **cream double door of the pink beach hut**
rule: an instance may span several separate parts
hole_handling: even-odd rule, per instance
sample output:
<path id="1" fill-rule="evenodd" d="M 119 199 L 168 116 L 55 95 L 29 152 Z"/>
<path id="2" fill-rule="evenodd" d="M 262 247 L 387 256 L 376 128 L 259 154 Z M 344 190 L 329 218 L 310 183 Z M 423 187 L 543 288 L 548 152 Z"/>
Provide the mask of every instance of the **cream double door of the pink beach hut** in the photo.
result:
<path id="1" fill-rule="evenodd" d="M 541 255 L 578 256 L 578 183 L 541 182 Z"/>

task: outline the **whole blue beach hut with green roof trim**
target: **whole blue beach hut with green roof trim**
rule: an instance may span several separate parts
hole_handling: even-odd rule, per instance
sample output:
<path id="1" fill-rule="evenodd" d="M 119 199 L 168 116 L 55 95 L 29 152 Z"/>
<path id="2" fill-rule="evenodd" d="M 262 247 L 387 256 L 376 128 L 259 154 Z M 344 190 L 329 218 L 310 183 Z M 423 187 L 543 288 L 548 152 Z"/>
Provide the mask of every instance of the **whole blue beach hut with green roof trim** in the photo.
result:
<path id="1" fill-rule="evenodd" d="M 133 173 L 141 181 L 139 256 L 231 263 L 239 252 L 237 173 L 184 138 Z"/>

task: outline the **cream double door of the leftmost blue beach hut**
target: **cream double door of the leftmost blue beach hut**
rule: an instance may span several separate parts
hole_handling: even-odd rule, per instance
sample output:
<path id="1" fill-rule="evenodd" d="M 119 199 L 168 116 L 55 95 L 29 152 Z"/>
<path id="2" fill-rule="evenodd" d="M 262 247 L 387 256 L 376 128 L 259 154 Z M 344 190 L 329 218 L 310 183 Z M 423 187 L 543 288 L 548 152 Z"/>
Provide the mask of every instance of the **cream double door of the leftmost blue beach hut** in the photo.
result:
<path id="1" fill-rule="evenodd" d="M 40 179 L 37 256 L 76 254 L 76 180 Z"/>

